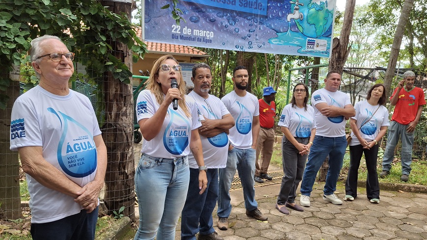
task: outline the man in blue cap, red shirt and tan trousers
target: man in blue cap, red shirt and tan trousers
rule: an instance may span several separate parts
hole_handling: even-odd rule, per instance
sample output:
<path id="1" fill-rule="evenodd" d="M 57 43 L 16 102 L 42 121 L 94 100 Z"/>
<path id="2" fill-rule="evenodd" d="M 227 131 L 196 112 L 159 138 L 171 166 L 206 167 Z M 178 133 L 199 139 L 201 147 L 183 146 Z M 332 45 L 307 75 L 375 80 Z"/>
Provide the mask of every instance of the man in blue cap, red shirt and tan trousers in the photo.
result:
<path id="1" fill-rule="evenodd" d="M 273 178 L 267 174 L 273 154 L 274 143 L 274 117 L 276 116 L 276 104 L 274 98 L 276 91 L 272 86 L 263 89 L 263 98 L 258 100 L 260 103 L 260 133 L 258 134 L 255 177 L 257 183 L 264 183 L 263 179 L 271 181 Z M 261 164 L 258 162 L 260 153 L 263 153 Z"/>

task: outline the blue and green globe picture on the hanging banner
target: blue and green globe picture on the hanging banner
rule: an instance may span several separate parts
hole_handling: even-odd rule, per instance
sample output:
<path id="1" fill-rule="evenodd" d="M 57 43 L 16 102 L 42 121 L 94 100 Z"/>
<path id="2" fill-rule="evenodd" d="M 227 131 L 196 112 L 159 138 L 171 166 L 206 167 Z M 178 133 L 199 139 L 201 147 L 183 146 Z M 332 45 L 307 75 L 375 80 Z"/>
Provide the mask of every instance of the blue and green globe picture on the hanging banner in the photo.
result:
<path id="1" fill-rule="evenodd" d="M 318 38 L 331 27 L 334 16 L 334 4 L 327 4 L 327 2 L 325 0 L 319 3 L 311 3 L 311 0 L 299 0 L 299 3 L 304 3 L 303 6 L 299 6 L 299 12 L 304 17 L 302 20 L 298 18 L 294 19 L 294 21 L 302 34 L 307 37 Z M 294 6 L 295 4 L 292 4 L 292 9 L 294 9 Z"/>

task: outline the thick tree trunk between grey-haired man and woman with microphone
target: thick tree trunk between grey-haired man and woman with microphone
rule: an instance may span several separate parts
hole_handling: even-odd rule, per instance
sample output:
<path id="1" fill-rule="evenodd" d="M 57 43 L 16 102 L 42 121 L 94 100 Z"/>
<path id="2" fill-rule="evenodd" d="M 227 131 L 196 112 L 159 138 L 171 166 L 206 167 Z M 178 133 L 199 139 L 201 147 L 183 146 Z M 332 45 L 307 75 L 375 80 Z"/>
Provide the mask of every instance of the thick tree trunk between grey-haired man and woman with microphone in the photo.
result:
<path id="1" fill-rule="evenodd" d="M 131 4 L 125 2 L 102 1 L 104 6 L 116 14 L 131 17 Z M 106 34 L 107 36 L 107 34 Z M 130 66 L 132 72 L 132 52 L 126 45 L 110 40 L 111 54 Z M 114 79 L 111 72 L 103 77 L 105 98 L 105 124 L 103 138 L 107 145 L 107 173 L 104 203 L 112 214 L 125 206 L 123 214 L 135 221 L 133 160 L 133 88 L 132 84 Z M 132 80 L 131 80 L 132 82 Z"/>

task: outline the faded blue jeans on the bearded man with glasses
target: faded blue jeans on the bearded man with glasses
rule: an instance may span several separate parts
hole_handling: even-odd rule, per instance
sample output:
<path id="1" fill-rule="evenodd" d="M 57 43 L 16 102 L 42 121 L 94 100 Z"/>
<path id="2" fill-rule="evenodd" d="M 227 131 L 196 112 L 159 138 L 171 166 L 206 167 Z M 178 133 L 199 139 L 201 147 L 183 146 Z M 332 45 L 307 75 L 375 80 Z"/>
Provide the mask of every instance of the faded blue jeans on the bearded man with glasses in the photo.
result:
<path id="1" fill-rule="evenodd" d="M 258 208 L 254 187 L 255 153 L 256 150 L 252 148 L 228 151 L 227 166 L 219 169 L 218 217 L 228 217 L 231 213 L 230 187 L 236 169 L 243 187 L 244 207 L 248 211 Z"/>

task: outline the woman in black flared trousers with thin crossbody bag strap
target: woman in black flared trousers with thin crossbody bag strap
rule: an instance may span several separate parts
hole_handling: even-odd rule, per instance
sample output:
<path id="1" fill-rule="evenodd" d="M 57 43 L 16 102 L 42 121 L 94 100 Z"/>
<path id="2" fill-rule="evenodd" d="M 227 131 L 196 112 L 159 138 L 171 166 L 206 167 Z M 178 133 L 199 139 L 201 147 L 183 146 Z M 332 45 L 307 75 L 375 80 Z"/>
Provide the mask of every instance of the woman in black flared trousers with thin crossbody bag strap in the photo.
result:
<path id="1" fill-rule="evenodd" d="M 387 99 L 385 87 L 378 83 L 368 91 L 366 101 L 354 105 L 356 115 L 350 118 L 350 166 L 346 182 L 344 200 L 353 201 L 357 196 L 357 171 L 362 154 L 365 154 L 368 177 L 366 178 L 366 195 L 371 203 L 379 203 L 379 183 L 376 173 L 378 142 L 390 126 L 389 113 L 383 105 Z"/>

